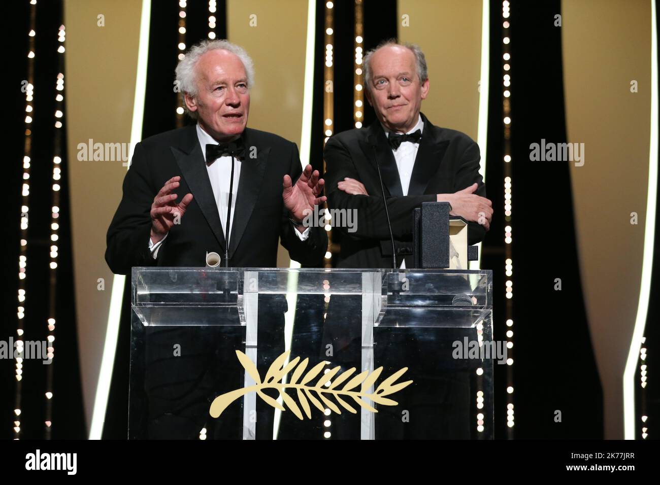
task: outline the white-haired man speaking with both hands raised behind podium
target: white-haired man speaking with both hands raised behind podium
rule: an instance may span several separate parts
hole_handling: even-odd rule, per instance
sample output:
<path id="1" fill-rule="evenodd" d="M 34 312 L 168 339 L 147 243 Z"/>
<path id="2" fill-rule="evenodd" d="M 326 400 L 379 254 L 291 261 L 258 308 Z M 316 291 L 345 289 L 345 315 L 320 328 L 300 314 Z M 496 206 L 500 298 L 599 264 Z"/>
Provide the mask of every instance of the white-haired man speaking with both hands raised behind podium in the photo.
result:
<path id="1" fill-rule="evenodd" d="M 275 267 L 278 238 L 303 266 L 323 263 L 325 230 L 302 224 L 325 201 L 323 179 L 302 170 L 294 143 L 247 127 L 253 77 L 248 53 L 226 40 L 203 41 L 180 61 L 176 80 L 197 124 L 135 146 L 108 229 L 114 273 L 205 266 L 211 252 L 223 266 Z"/>

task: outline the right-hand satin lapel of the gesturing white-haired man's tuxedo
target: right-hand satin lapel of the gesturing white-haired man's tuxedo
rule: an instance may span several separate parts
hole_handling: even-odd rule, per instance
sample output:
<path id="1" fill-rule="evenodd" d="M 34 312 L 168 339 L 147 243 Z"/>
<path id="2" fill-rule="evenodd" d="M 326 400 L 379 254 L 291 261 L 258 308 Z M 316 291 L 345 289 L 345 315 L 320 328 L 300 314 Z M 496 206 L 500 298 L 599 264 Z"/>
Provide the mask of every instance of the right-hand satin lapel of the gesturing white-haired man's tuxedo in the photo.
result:
<path id="1" fill-rule="evenodd" d="M 241 176 L 238 181 L 238 192 L 236 193 L 234 225 L 231 228 L 231 237 L 229 238 L 230 257 L 234 256 L 236 247 L 238 247 L 238 243 L 240 243 L 248 227 L 249 218 L 261 190 L 268 155 L 271 152 L 271 147 L 261 145 L 259 139 L 255 137 L 255 132 L 249 128 L 246 128 L 243 132 L 243 141 L 246 147 L 246 155 L 241 162 Z M 251 158 L 251 154 L 254 152 L 256 152 L 257 157 Z"/>

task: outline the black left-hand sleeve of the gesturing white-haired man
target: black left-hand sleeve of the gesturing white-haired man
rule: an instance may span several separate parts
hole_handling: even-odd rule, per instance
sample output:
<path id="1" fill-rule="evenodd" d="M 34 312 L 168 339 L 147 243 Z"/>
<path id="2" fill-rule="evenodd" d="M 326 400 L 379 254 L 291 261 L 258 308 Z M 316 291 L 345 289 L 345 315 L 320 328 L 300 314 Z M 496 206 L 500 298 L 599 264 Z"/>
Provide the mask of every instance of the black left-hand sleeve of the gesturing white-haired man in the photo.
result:
<path id="1" fill-rule="evenodd" d="M 128 275 L 131 267 L 156 265 L 158 259 L 149 251 L 149 213 L 156 193 L 150 183 L 145 150 L 138 143 L 124 177 L 121 202 L 106 236 L 106 262 L 112 273 Z"/>

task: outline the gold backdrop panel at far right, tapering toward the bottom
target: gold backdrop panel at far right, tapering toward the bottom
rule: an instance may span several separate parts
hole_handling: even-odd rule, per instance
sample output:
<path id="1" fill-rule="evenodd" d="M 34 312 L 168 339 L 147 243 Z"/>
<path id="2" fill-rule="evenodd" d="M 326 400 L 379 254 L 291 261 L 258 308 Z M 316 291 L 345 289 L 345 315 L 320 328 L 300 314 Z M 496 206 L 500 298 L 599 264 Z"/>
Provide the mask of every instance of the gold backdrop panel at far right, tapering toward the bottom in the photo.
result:
<path id="1" fill-rule="evenodd" d="M 570 164 L 582 288 L 603 385 L 605 438 L 622 439 L 622 382 L 640 296 L 649 185 L 651 3 L 562 1 L 561 29 L 568 142 L 585 148 L 584 165 Z M 547 187 L 546 196 L 562 194 Z M 638 224 L 631 224 L 631 212 Z"/>

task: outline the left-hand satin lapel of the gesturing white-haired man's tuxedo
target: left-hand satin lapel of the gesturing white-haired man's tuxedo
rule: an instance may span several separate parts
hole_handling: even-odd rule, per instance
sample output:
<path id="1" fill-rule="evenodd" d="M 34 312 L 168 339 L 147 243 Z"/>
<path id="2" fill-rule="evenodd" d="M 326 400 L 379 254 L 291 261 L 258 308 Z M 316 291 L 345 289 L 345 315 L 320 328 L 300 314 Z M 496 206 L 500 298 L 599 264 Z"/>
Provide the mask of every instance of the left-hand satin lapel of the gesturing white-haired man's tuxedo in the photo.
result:
<path id="1" fill-rule="evenodd" d="M 172 150 L 176 163 L 183 174 L 185 183 L 188 184 L 190 192 L 193 194 L 193 200 L 199 206 L 202 214 L 204 214 L 224 253 L 224 234 L 222 234 L 218 205 L 213 195 L 209 172 L 204 163 L 204 155 L 202 154 L 202 148 L 199 145 L 199 139 L 197 139 L 197 131 L 194 125 L 187 128 L 185 145 L 181 147 L 170 146 L 170 150 Z"/>

